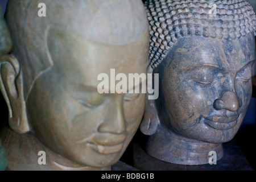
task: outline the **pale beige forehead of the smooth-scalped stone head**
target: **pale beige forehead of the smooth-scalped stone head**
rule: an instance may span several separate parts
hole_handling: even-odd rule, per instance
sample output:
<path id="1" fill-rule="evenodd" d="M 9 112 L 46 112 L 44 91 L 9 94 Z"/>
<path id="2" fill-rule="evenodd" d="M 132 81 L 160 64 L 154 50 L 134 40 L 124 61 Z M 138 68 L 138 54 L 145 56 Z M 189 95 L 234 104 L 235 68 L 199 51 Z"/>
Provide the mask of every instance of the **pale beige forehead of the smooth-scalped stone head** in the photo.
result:
<path id="1" fill-rule="evenodd" d="M 49 59 L 58 73 L 72 82 L 97 88 L 97 77 L 110 69 L 115 74 L 145 73 L 148 57 L 148 31 L 133 43 L 109 46 L 73 32 L 53 28 L 48 32 Z"/>

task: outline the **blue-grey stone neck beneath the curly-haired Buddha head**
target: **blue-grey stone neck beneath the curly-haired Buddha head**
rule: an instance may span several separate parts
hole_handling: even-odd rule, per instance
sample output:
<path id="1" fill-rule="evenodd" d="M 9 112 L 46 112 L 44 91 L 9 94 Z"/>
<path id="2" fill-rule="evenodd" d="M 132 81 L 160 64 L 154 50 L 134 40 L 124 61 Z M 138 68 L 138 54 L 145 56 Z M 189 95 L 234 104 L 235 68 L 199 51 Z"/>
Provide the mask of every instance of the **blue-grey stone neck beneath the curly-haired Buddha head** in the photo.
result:
<path id="1" fill-rule="evenodd" d="M 174 164 L 209 164 L 210 151 L 216 152 L 217 160 L 223 156 L 221 143 L 207 143 L 185 138 L 163 126 L 159 126 L 158 131 L 150 136 L 146 143 L 146 152 L 149 155 Z"/>

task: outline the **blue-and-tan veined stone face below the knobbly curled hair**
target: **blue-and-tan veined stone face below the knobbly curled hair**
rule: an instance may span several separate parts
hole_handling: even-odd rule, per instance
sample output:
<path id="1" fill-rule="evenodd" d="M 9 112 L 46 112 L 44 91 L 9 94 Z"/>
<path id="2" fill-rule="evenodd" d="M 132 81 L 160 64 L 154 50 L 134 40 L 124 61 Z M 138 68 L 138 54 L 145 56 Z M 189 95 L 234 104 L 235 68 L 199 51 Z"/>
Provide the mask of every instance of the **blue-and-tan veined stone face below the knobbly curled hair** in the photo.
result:
<path id="1" fill-rule="evenodd" d="M 250 103 L 254 35 L 236 40 L 191 36 L 179 40 L 155 69 L 160 76 L 158 115 L 183 137 L 231 140 Z"/>

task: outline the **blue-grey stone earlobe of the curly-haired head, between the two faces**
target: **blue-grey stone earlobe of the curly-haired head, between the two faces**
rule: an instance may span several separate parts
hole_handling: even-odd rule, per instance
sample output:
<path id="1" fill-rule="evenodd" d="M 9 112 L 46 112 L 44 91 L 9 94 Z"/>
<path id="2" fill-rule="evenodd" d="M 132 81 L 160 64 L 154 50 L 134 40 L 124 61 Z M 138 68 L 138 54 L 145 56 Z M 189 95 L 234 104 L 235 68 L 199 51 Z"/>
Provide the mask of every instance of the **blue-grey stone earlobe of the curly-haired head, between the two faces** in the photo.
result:
<path id="1" fill-rule="evenodd" d="M 148 67 L 147 73 L 152 74 L 152 68 Z M 152 83 L 149 83 L 152 84 Z M 154 135 L 159 126 L 158 111 L 156 110 L 155 100 L 148 100 L 146 96 L 146 105 L 144 116 L 141 123 L 141 132 L 145 135 Z"/>

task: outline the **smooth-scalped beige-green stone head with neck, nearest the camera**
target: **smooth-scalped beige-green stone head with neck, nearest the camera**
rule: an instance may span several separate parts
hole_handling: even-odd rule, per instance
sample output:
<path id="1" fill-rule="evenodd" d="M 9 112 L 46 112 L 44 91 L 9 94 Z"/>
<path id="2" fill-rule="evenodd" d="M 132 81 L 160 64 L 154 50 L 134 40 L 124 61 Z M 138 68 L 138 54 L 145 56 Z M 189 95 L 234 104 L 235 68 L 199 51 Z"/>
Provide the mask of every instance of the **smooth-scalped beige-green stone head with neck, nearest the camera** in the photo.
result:
<path id="1" fill-rule="evenodd" d="M 13 158 L 8 167 L 109 169 L 139 127 L 145 94 L 100 94 L 97 77 L 110 77 L 110 69 L 146 73 L 143 3 L 46 0 L 45 17 L 38 16 L 39 3 L 10 0 L 7 6 L 14 47 L 0 64 L 1 91 L 15 131 L 9 134 L 13 142 L 3 139 Z M 40 150 L 46 151 L 46 168 L 38 165 Z"/>

